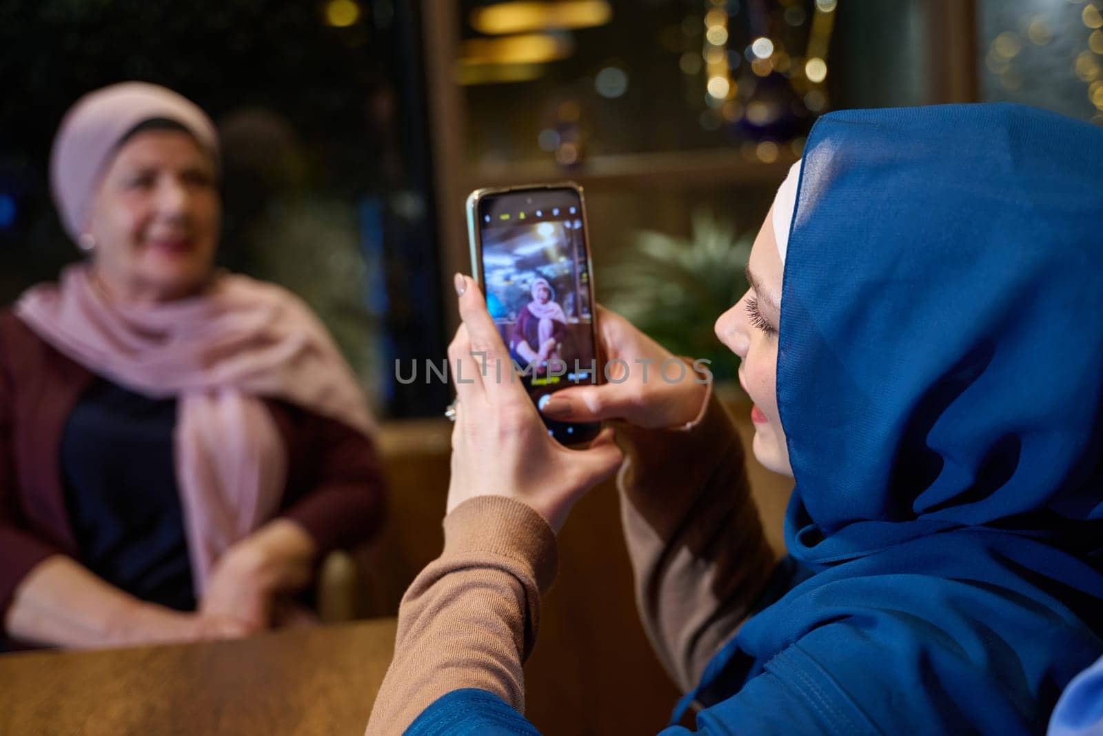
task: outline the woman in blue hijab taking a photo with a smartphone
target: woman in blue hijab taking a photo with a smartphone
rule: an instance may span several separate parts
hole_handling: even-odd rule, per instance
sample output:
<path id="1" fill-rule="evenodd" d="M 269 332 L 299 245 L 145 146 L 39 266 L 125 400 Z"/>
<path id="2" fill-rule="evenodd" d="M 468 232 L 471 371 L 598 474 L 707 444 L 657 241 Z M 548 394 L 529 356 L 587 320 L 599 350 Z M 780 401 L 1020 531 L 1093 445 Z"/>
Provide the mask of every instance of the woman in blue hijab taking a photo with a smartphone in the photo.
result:
<path id="1" fill-rule="evenodd" d="M 796 483 L 789 555 L 686 683 L 700 733 L 1042 733 L 1103 654 L 1101 172 L 1103 130 L 1014 105 L 815 125 L 792 216 L 775 204 L 752 288 L 717 323 L 756 402 L 754 455 Z M 453 361 L 471 345 L 504 351 L 474 285 L 458 291 Z M 556 418 L 667 426 L 654 417 L 674 390 L 653 384 L 632 408 L 595 399 L 620 384 L 563 392 Z M 404 601 L 370 733 L 534 733 L 516 682 L 502 683 L 531 649 L 554 537 L 488 535 L 548 538 L 620 459 L 606 437 L 545 446 L 505 384 L 457 388 L 445 553 Z M 490 452 L 501 427 L 518 439 Z M 514 480 L 514 455 L 558 484 Z M 503 570 L 515 587 L 493 577 Z M 502 648 L 486 621 L 513 622 Z M 490 664 L 471 653 L 486 651 Z M 404 696 L 424 711 L 410 725 L 393 691 L 415 681 Z"/>

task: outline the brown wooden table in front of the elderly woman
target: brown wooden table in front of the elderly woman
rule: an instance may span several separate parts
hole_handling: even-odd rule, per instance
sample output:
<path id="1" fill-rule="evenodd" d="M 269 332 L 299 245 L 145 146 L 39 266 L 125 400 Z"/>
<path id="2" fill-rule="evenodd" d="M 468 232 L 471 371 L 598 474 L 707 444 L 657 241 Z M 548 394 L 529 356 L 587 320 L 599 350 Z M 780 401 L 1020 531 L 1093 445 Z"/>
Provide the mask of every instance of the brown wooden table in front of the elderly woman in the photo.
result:
<path id="1" fill-rule="evenodd" d="M 395 620 L 236 641 L 0 657 L 0 734 L 360 735 Z"/>

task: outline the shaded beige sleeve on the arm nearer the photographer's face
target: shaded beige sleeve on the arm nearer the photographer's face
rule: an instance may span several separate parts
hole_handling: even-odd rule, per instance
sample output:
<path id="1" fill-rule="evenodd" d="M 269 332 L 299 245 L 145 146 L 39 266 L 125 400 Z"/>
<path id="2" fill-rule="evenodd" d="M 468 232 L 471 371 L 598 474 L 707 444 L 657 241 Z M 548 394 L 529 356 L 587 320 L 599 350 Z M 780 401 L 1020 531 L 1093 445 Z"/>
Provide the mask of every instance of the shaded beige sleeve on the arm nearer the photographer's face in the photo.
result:
<path id="1" fill-rule="evenodd" d="M 618 476 L 652 647 L 688 692 L 738 631 L 774 567 L 750 495 L 739 436 L 711 395 L 687 427 L 617 429 L 627 460 Z"/>

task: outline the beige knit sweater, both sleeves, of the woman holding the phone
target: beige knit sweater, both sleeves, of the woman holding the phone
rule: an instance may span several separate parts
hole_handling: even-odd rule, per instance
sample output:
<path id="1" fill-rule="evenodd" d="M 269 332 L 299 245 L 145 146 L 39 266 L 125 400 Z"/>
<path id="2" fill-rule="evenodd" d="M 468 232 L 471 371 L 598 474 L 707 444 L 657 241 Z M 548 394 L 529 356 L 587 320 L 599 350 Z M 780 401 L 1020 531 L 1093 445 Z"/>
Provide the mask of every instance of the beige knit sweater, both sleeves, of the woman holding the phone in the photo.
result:
<path id="1" fill-rule="evenodd" d="M 619 424 L 617 438 L 640 616 L 658 659 L 688 691 L 747 617 L 773 553 L 739 437 L 711 394 L 685 428 Z M 555 534 L 524 503 L 486 495 L 457 506 L 445 519 L 443 552 L 403 597 L 395 658 L 367 734 L 399 734 L 461 687 L 486 690 L 523 713 L 522 666 L 555 572 Z"/>

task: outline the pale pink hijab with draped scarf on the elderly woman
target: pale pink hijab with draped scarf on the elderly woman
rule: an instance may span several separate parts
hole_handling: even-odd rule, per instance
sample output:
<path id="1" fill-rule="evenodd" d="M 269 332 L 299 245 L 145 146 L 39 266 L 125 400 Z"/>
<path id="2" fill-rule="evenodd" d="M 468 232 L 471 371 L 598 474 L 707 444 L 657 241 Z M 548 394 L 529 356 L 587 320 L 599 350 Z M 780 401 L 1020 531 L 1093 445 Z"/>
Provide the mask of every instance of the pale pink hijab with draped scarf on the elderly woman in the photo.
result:
<path id="1" fill-rule="evenodd" d="M 173 92 L 128 83 L 79 100 L 62 122 L 51 173 L 77 237 L 118 141 L 153 117 L 217 150 L 206 115 Z M 279 398 L 368 435 L 364 395 L 325 328 L 297 297 L 245 276 L 216 275 L 201 295 L 135 308 L 110 301 L 88 266 L 15 306 L 43 340 L 86 369 L 150 397 L 176 396 L 176 479 L 195 593 L 234 542 L 279 509 L 286 448 L 261 397 Z"/>

